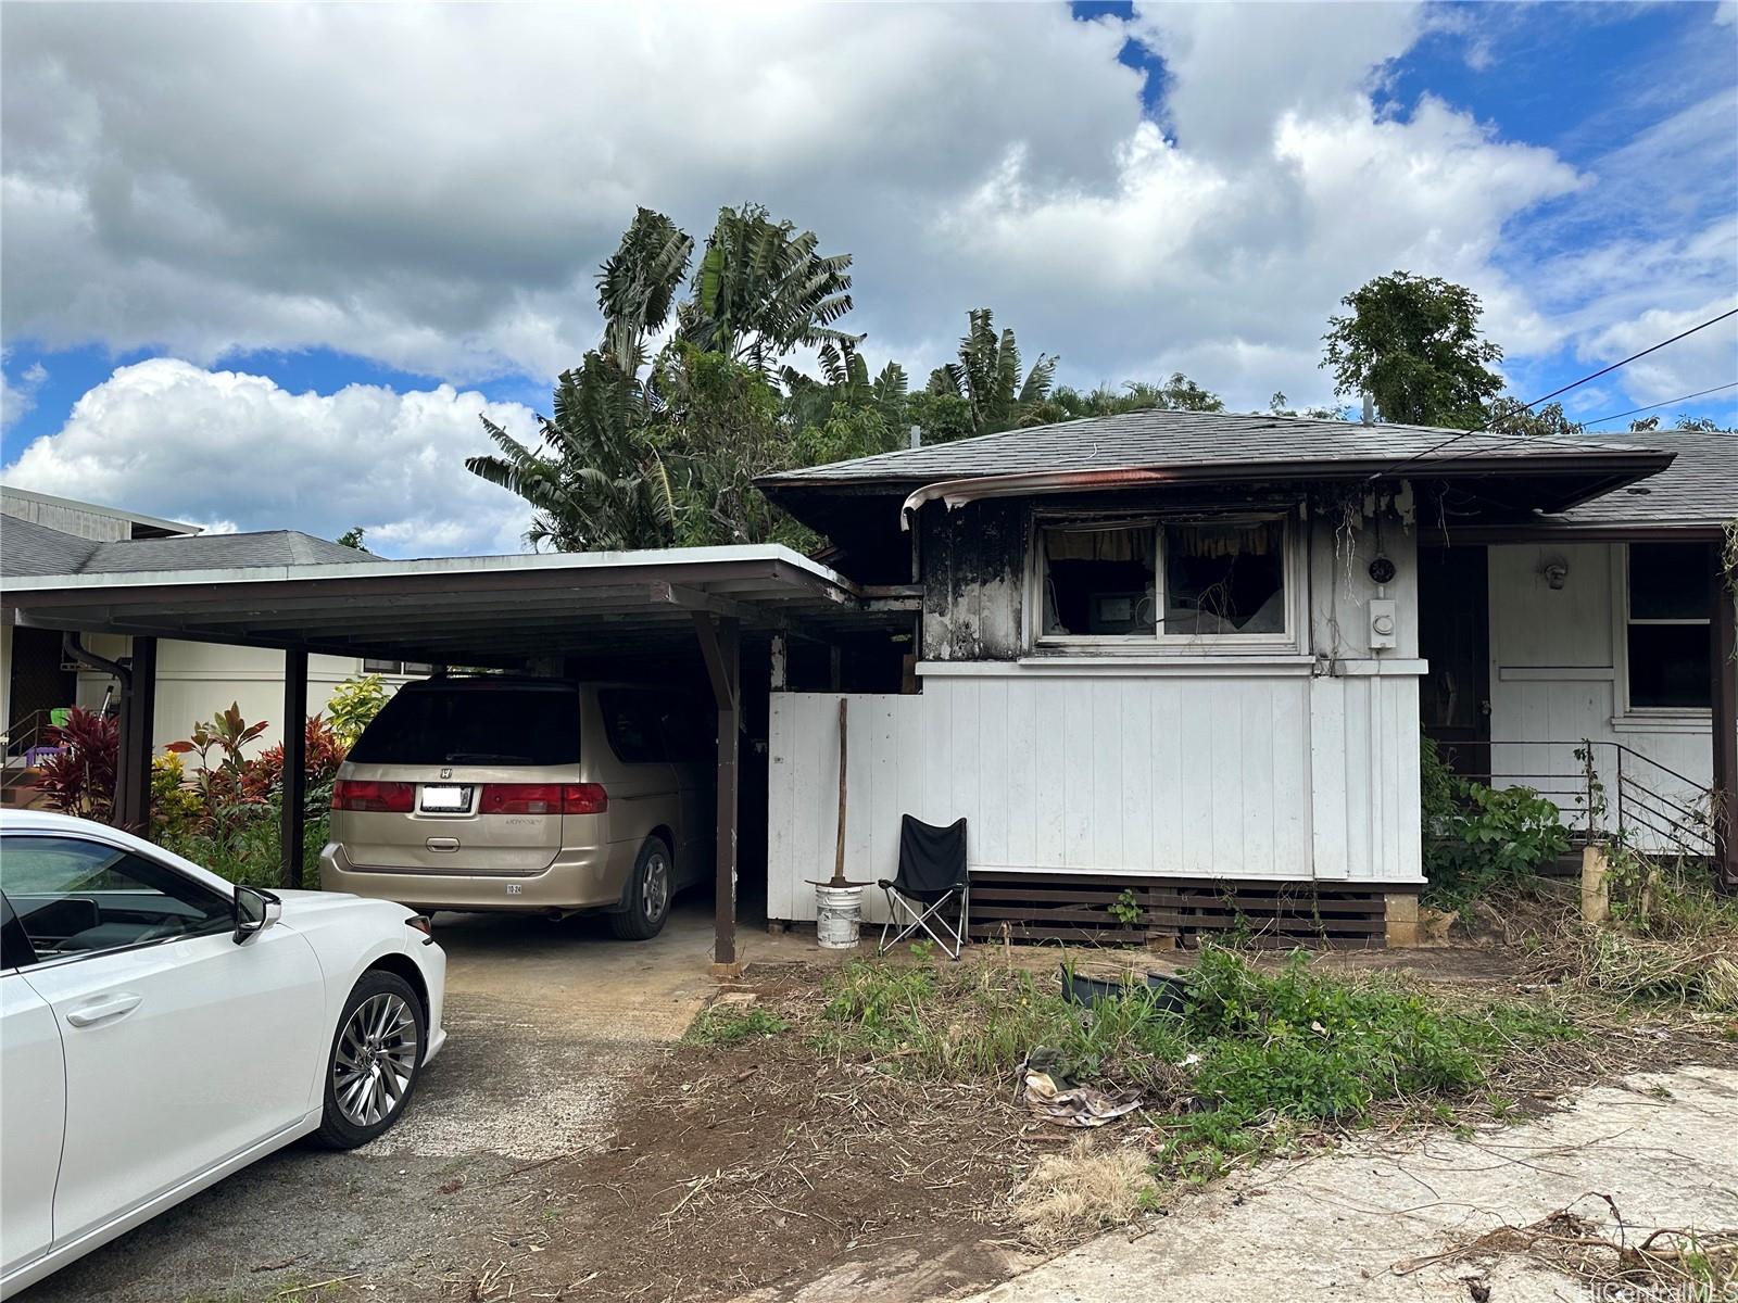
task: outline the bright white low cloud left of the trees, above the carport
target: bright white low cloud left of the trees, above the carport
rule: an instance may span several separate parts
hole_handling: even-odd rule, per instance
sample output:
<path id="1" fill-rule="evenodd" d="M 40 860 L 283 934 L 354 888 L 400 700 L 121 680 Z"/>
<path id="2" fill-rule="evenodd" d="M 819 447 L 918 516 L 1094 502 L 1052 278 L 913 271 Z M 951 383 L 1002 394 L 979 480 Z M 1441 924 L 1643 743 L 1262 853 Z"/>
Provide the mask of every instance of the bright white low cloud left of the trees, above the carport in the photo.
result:
<path id="1" fill-rule="evenodd" d="M 156 358 L 90 389 L 5 481 L 216 532 L 335 539 L 362 525 L 370 549 L 391 556 L 521 551 L 523 504 L 464 469 L 490 450 L 478 413 L 535 438 L 530 410 L 445 384 L 292 394 L 261 375 Z"/>

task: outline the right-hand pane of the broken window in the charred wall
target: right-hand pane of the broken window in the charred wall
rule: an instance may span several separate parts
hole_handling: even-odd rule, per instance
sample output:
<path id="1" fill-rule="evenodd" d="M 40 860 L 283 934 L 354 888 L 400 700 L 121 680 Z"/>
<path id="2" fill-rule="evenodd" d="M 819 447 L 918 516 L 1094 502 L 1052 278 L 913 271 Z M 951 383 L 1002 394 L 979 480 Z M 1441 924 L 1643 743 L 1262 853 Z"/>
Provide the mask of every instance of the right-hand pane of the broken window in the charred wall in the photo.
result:
<path id="1" fill-rule="evenodd" d="M 1283 634 L 1281 521 L 1164 526 L 1166 634 Z"/>

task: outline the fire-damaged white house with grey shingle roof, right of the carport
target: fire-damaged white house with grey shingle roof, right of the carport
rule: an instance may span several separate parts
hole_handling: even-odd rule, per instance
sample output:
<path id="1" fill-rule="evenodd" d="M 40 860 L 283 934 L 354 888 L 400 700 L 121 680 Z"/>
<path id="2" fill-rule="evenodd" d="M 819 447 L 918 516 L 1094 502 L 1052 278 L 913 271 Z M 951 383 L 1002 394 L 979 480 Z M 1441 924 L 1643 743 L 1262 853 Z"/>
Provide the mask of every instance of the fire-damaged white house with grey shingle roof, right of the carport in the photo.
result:
<path id="1" fill-rule="evenodd" d="M 892 876 L 900 813 L 965 817 L 978 938 L 1404 938 L 1422 724 L 1714 855 L 1733 438 L 1154 410 L 770 476 L 923 612 L 916 691 L 773 693 L 768 914 L 815 916 L 841 700 L 846 876 Z"/>

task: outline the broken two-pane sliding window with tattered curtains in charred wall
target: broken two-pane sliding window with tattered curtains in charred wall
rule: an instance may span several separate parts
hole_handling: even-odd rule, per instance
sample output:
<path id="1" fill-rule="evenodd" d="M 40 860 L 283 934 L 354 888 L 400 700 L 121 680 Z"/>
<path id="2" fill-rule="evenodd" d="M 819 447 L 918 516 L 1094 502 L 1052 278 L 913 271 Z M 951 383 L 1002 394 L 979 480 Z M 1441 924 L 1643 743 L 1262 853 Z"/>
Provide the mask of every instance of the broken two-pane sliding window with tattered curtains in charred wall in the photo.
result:
<path id="1" fill-rule="evenodd" d="M 1039 526 L 1039 641 L 1290 641 L 1286 521 Z"/>

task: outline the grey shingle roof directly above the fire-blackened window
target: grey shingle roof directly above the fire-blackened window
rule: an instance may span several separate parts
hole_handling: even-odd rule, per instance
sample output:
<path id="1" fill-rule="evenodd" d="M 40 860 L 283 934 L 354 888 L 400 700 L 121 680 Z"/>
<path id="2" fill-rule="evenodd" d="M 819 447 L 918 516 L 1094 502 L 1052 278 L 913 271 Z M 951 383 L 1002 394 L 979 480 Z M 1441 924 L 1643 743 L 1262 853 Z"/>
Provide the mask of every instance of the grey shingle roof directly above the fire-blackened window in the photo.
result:
<path id="1" fill-rule="evenodd" d="M 1446 445 L 1446 446 L 1444 446 Z M 1646 457 L 1642 445 L 1608 440 L 1465 434 L 1430 426 L 1364 426 L 1352 420 L 1312 420 L 1232 412 L 1128 412 L 1057 426 L 1010 429 L 954 443 L 902 448 L 831 466 L 766 476 L 766 486 L 925 485 L 1022 471 L 1116 471 L 1133 467 L 1262 467 L 1343 464 L 1349 473 L 1420 466 L 1479 467 L 1491 462 L 1576 462 L 1609 455 Z"/>

